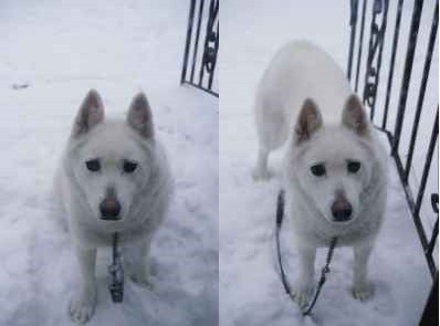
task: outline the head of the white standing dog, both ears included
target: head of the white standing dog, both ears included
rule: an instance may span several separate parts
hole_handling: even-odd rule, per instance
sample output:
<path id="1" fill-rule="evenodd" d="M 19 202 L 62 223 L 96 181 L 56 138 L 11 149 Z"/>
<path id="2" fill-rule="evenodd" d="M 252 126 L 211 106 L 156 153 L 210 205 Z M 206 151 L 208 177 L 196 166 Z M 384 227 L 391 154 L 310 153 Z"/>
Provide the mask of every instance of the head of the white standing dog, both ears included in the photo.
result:
<path id="1" fill-rule="evenodd" d="M 332 223 L 354 221 L 370 185 L 371 129 L 357 96 L 345 103 L 339 126 L 325 127 L 319 108 L 306 99 L 293 137 L 295 161 L 289 164 L 301 190 Z"/>

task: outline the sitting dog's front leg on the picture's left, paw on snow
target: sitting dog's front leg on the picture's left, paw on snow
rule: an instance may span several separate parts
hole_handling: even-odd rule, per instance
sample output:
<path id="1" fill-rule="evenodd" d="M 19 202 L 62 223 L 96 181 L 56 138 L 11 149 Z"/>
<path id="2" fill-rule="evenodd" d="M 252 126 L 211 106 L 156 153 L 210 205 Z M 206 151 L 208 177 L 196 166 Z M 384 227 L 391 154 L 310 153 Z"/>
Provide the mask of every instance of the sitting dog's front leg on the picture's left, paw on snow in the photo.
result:
<path id="1" fill-rule="evenodd" d="M 69 313 L 75 323 L 86 323 L 95 313 L 96 306 L 96 249 L 76 248 L 82 284 L 78 293 L 71 301 Z"/>

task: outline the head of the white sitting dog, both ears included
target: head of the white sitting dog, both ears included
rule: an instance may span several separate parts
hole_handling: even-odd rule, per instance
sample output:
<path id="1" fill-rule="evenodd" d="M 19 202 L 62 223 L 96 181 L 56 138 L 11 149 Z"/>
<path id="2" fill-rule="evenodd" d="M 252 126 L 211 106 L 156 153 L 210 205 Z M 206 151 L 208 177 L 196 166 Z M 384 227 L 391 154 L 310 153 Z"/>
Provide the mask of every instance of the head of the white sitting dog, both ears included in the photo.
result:
<path id="1" fill-rule="evenodd" d="M 155 166 L 151 111 L 146 96 L 134 97 L 125 123 L 105 122 L 99 94 L 86 95 L 75 118 L 72 173 L 98 221 L 124 222 Z"/>

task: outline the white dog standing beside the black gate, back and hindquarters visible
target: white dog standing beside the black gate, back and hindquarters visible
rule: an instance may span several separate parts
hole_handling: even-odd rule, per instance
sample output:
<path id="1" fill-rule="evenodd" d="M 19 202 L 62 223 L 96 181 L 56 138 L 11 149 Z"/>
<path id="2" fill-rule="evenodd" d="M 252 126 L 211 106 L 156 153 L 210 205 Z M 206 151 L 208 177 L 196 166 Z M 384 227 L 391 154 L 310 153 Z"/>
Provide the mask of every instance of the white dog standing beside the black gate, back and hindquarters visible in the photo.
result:
<path id="1" fill-rule="evenodd" d="M 268 178 L 269 153 L 286 139 L 286 214 L 300 253 L 294 299 L 307 305 L 316 249 L 354 248 L 353 294 L 373 294 L 367 263 L 385 203 L 387 156 L 342 70 L 307 42 L 289 43 L 265 71 L 256 95 L 254 178 Z"/>

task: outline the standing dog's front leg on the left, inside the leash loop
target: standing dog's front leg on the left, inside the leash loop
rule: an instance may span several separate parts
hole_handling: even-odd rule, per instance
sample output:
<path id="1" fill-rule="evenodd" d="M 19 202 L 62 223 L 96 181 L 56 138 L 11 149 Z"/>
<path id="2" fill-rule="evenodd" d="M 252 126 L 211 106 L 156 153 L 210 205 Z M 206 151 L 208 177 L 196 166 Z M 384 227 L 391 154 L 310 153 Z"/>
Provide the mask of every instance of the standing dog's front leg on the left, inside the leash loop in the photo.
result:
<path id="1" fill-rule="evenodd" d="M 313 280 L 315 275 L 315 248 L 300 248 L 300 275 L 293 292 L 293 299 L 301 308 L 308 304 L 308 298 L 313 293 Z"/>

